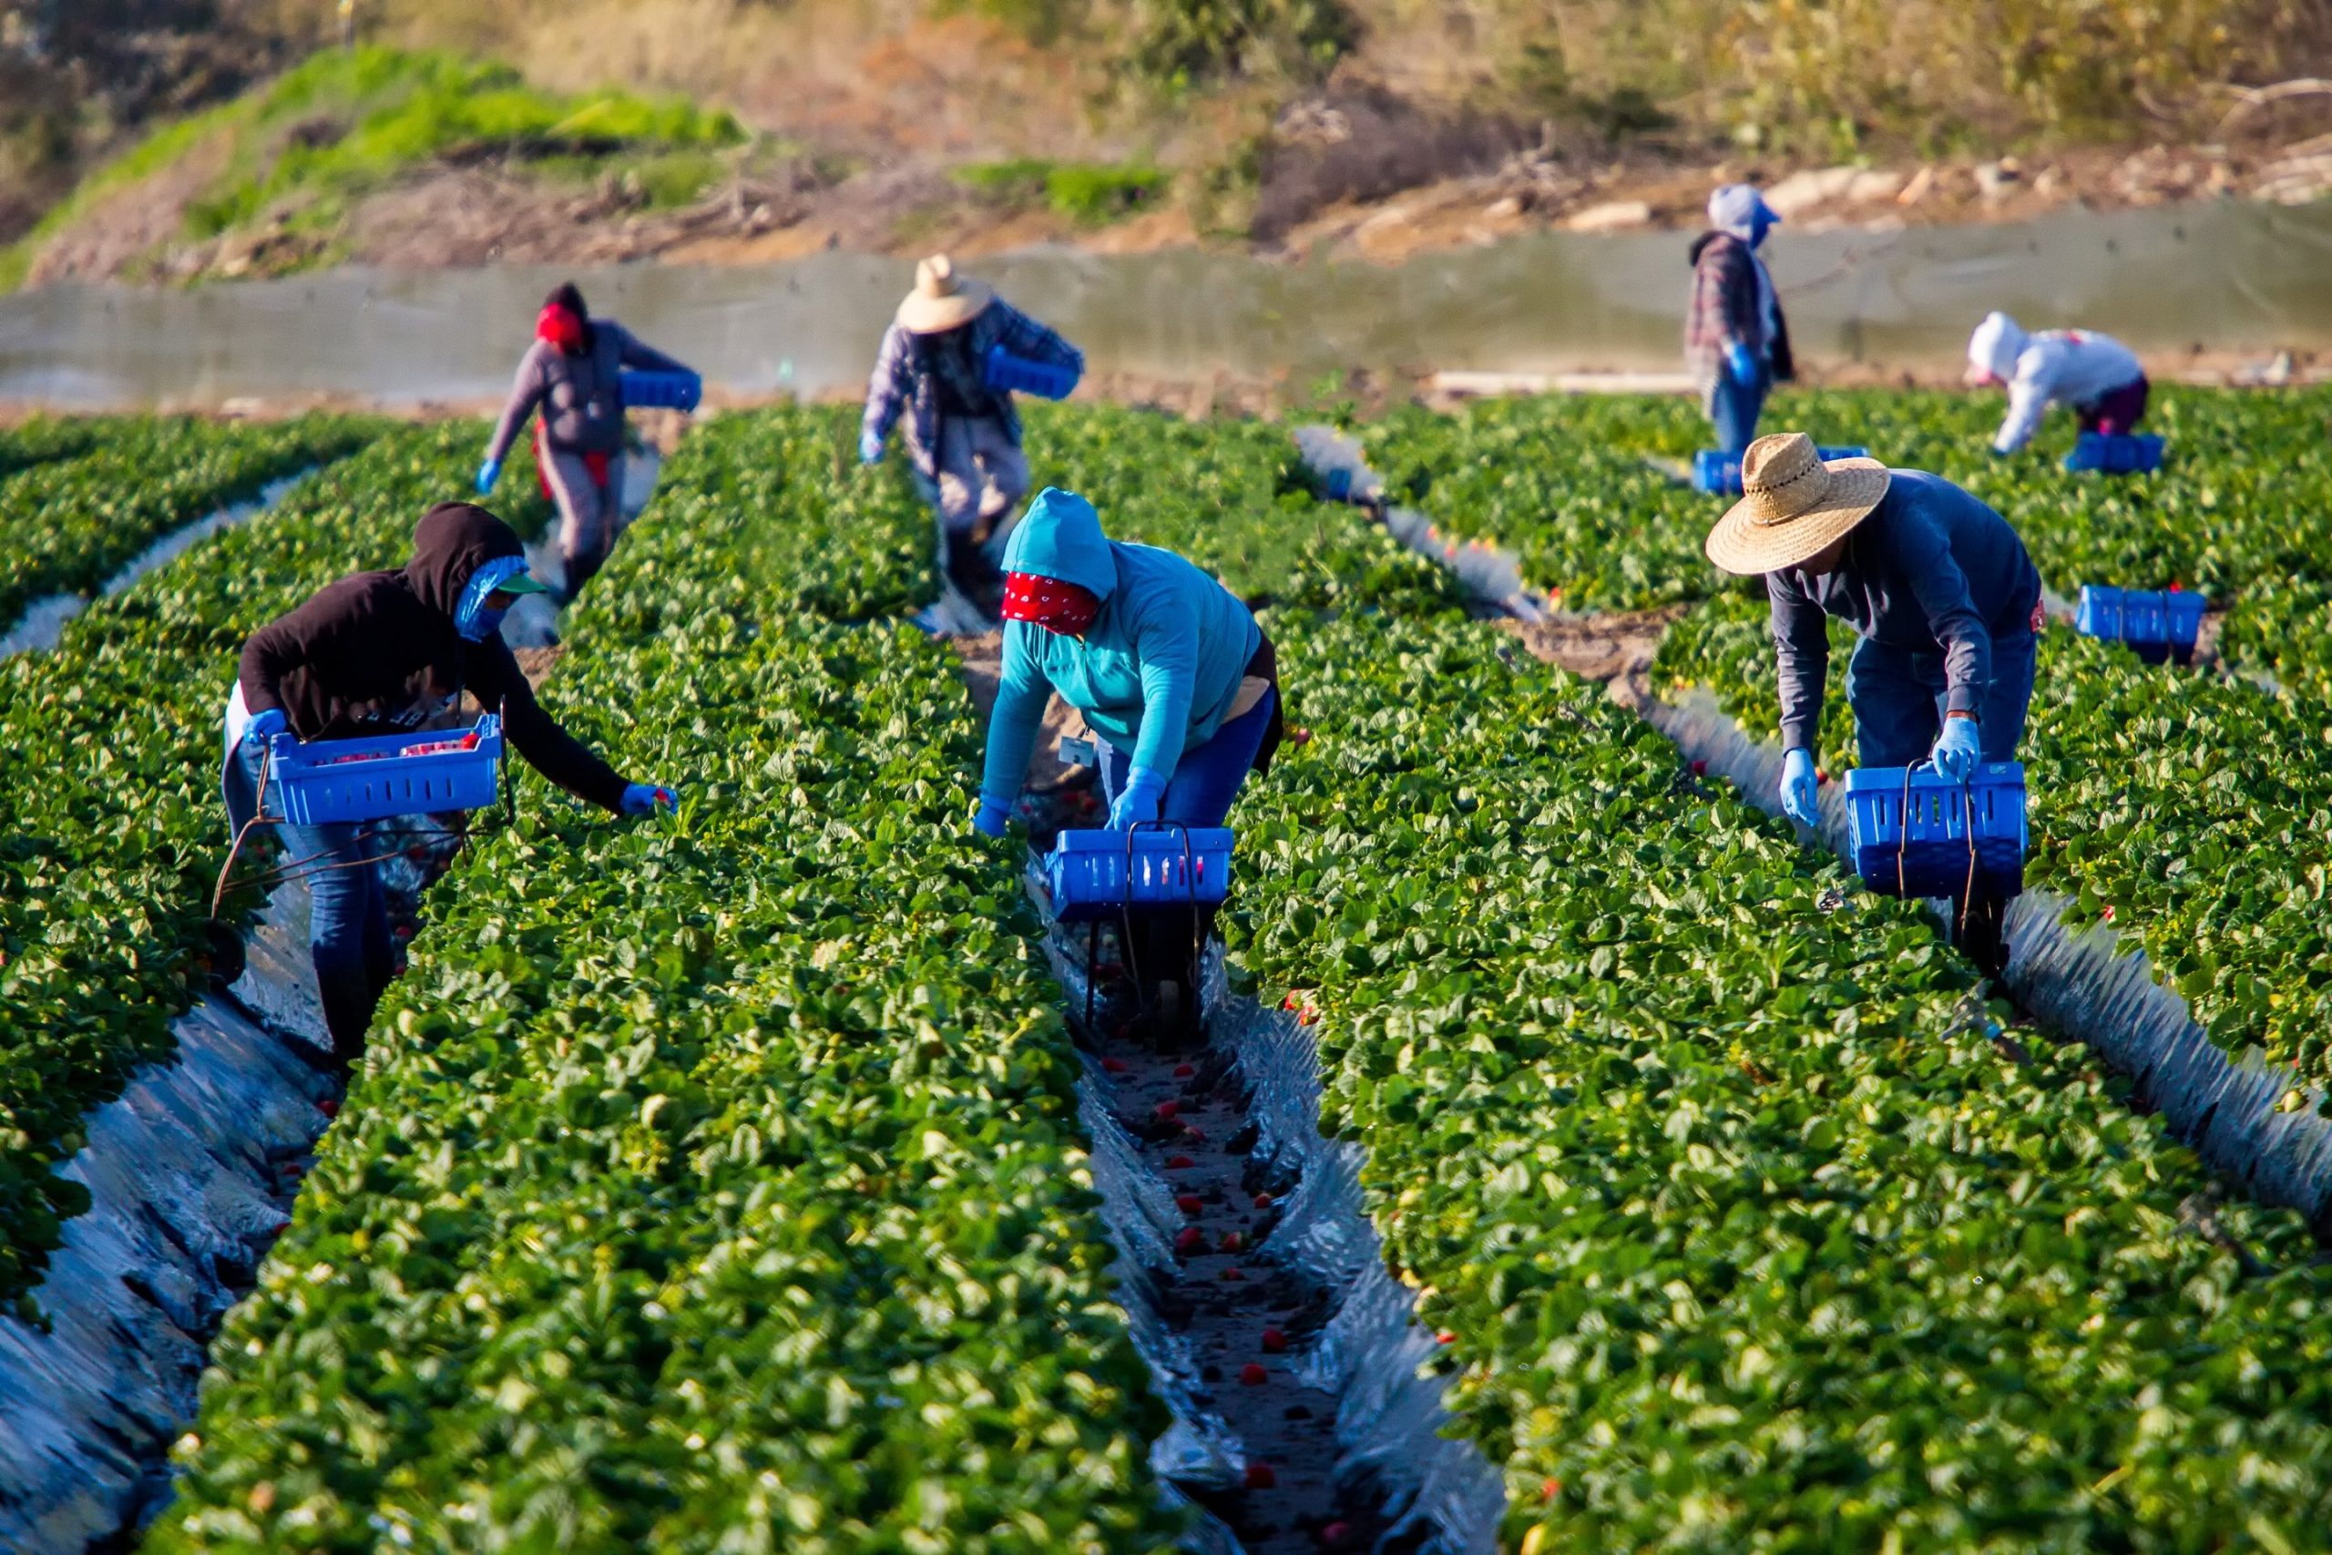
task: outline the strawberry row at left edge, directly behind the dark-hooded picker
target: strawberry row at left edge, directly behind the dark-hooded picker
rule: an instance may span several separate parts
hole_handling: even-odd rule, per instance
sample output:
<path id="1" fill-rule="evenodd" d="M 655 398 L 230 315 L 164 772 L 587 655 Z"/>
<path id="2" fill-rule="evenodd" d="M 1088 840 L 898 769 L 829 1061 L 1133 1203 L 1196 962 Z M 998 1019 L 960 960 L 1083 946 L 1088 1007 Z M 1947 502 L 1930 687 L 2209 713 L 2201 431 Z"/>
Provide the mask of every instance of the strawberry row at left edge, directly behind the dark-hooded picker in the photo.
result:
<path id="1" fill-rule="evenodd" d="M 0 660 L 0 1299 L 86 1203 L 49 1170 L 82 1114 L 170 1051 L 187 1007 L 226 853 L 219 720 L 243 639 L 399 564 L 473 452 L 466 424 L 392 434 L 93 604 L 54 653 Z"/>

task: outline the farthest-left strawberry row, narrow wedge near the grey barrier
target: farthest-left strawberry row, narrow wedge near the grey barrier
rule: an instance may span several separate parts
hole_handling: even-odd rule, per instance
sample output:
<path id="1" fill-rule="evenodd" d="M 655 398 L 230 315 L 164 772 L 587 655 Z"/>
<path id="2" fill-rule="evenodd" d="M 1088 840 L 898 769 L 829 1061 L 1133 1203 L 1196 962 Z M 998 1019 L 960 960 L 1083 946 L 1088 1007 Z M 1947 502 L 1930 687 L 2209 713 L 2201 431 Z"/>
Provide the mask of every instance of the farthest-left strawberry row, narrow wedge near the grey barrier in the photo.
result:
<path id="1" fill-rule="evenodd" d="M 378 434 L 380 424 L 343 415 L 107 424 L 79 457 L 42 462 L 0 485 L 0 625 L 42 594 L 96 592 L 170 529 Z"/>

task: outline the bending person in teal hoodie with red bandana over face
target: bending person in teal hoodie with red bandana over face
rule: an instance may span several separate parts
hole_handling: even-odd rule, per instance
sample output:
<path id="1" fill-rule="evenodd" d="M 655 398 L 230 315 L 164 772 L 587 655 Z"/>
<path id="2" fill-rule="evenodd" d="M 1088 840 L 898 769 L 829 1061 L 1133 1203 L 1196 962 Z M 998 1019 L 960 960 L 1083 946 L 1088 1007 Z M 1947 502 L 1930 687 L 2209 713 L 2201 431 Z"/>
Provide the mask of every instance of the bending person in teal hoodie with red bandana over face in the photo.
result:
<path id="1" fill-rule="evenodd" d="M 1101 532 L 1087 499 L 1047 487 L 1005 548 L 1005 660 L 975 825 L 1005 835 L 1045 702 L 1101 739 L 1110 825 L 1222 825 L 1248 772 L 1271 767 L 1278 655 L 1241 599 L 1154 546 Z"/>

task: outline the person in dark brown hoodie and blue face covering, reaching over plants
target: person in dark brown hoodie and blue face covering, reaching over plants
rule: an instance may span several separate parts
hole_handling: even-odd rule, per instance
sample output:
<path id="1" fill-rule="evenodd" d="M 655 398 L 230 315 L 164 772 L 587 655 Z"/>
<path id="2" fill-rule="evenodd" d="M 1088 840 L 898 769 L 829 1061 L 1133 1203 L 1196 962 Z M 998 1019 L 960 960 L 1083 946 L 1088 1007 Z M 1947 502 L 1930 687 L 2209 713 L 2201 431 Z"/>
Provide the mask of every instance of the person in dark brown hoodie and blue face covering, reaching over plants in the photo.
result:
<path id="1" fill-rule="evenodd" d="M 501 615 L 543 592 L 511 532 L 485 508 L 445 501 L 413 532 L 399 571 L 361 571 L 324 587 L 243 643 L 226 699 L 226 816 L 236 835 L 259 811 L 271 734 L 359 739 L 420 730 L 469 692 L 499 711 L 504 734 L 536 772 L 602 809 L 646 816 L 669 788 L 627 783 L 534 702 L 501 641 Z M 345 1068 L 394 968 L 375 851 L 359 823 L 278 828 L 289 858 L 308 860 L 308 947 L 324 1023 Z M 394 853 L 396 849 L 387 849 Z"/>

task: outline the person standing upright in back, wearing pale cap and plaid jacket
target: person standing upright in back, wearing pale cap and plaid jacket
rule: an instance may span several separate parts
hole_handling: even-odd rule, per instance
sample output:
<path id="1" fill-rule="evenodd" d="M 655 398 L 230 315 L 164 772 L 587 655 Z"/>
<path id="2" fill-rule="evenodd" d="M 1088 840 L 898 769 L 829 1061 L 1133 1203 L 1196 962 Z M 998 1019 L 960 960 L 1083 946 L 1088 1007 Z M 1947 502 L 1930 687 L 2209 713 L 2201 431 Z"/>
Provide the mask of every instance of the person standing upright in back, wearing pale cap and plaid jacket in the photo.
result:
<path id="1" fill-rule="evenodd" d="M 1749 184 L 1709 196 L 1709 231 L 1693 240 L 1693 303 L 1684 317 L 1684 357 L 1716 424 L 1716 445 L 1733 459 L 1756 436 L 1772 385 L 1796 375 L 1789 322 L 1758 259 L 1779 224 Z"/>

